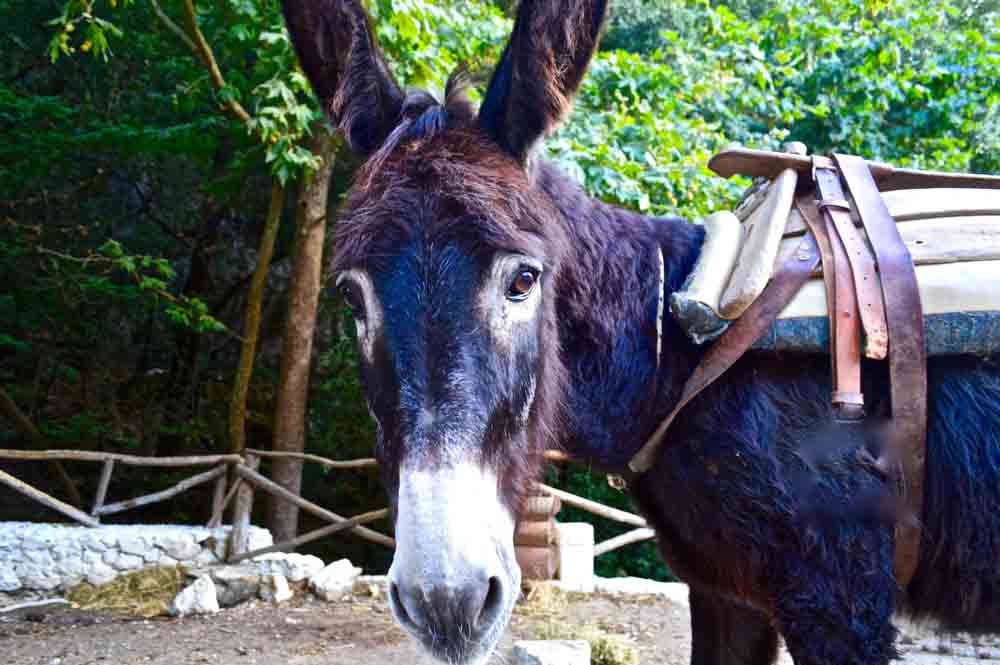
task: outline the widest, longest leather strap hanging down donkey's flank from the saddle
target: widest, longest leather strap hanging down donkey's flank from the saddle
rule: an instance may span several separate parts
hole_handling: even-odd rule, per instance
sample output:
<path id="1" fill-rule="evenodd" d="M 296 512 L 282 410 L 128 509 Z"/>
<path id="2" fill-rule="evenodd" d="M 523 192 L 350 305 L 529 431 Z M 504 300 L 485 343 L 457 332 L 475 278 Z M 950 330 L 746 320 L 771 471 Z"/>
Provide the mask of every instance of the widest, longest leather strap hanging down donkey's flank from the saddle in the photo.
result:
<path id="1" fill-rule="evenodd" d="M 923 308 L 917 275 L 899 229 L 886 208 L 868 164 L 859 157 L 834 155 L 854 199 L 882 277 L 889 329 L 892 427 L 888 456 L 901 469 L 900 493 L 909 515 L 896 525 L 896 581 L 903 588 L 920 561 L 924 469 L 927 456 L 927 357 Z M 895 459 L 891 459 L 895 458 Z M 896 466 L 896 464 L 893 464 Z"/>

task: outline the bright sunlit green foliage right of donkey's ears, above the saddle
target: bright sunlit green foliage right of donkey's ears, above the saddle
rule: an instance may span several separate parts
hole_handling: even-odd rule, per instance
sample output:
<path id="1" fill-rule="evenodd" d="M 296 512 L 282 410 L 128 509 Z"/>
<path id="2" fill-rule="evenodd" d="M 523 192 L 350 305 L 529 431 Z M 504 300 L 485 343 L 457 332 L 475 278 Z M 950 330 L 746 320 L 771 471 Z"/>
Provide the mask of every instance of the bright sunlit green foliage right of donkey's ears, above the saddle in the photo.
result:
<path id="1" fill-rule="evenodd" d="M 732 142 L 1000 169 L 995 5 L 620 4 L 605 48 L 632 53 L 597 57 L 571 122 L 549 142 L 605 200 L 686 217 L 731 205 L 746 183 L 705 164 Z"/>

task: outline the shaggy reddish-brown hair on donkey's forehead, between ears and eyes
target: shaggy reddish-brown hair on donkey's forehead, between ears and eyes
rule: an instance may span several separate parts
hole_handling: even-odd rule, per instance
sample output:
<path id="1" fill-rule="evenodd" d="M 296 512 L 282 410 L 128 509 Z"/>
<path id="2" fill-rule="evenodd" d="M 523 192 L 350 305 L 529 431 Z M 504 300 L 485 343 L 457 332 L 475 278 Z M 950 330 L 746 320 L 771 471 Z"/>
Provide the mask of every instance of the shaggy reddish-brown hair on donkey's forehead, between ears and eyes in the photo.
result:
<path id="1" fill-rule="evenodd" d="M 411 92 L 398 124 L 361 166 L 335 231 L 335 270 L 363 267 L 416 234 L 461 235 L 493 251 L 521 252 L 558 265 L 563 230 L 530 177 L 477 125 L 458 69 L 445 103 Z"/>

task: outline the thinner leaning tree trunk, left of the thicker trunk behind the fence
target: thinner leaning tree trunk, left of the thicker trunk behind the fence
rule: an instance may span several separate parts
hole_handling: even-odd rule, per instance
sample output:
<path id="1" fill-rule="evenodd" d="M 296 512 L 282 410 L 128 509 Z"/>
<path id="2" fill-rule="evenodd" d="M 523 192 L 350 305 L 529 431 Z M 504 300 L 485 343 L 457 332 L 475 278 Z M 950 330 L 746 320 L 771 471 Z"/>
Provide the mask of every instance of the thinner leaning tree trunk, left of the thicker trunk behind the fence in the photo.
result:
<path id="1" fill-rule="evenodd" d="M 250 280 L 247 309 L 243 323 L 243 344 L 240 346 L 240 364 L 233 380 L 233 394 L 229 400 L 229 449 L 241 453 L 247 445 L 247 392 L 253 375 L 253 361 L 257 354 L 257 336 L 260 333 L 260 308 L 267 285 L 267 272 L 274 255 L 274 239 L 281 224 L 281 208 L 285 202 L 285 188 L 278 180 L 271 184 L 271 204 L 267 210 L 264 234 L 257 251 L 257 267 Z"/>

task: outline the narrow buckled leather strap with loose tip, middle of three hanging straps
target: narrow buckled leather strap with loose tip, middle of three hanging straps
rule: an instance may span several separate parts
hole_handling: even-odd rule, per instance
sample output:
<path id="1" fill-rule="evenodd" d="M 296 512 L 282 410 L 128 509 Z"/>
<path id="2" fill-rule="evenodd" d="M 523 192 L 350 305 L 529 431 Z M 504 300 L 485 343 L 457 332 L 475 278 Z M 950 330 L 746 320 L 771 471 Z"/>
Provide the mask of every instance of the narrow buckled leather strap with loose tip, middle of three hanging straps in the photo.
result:
<path id="1" fill-rule="evenodd" d="M 837 171 L 817 164 L 813 170 L 813 177 L 821 198 L 819 207 L 828 225 L 833 225 L 830 233 L 839 238 L 845 257 L 850 262 L 854 282 L 852 290 L 857 294 L 861 325 L 865 331 L 865 356 L 882 360 L 888 352 L 889 334 L 875 260 L 868 249 L 868 244 L 851 219 L 850 204 L 840 185 Z"/>

